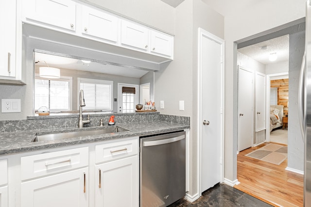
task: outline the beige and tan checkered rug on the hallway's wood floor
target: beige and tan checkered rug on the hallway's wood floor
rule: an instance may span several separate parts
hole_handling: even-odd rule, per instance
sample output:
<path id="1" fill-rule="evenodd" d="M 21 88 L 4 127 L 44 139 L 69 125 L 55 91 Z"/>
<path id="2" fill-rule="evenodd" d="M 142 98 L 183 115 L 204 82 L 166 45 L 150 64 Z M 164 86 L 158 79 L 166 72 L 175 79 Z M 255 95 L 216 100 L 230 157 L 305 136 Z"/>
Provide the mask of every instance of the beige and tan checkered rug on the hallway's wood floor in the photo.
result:
<path id="1" fill-rule="evenodd" d="M 279 165 L 287 158 L 287 146 L 270 143 L 245 156 Z"/>

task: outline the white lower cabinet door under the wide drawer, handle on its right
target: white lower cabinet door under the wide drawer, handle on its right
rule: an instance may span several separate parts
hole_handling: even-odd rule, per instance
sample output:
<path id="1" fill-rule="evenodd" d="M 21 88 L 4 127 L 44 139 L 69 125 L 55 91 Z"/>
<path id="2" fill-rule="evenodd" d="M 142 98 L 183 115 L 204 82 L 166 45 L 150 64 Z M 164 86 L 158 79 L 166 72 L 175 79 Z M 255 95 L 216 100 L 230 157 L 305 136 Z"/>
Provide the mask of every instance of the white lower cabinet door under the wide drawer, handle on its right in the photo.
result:
<path id="1" fill-rule="evenodd" d="M 87 207 L 88 168 L 21 183 L 21 207 Z"/>

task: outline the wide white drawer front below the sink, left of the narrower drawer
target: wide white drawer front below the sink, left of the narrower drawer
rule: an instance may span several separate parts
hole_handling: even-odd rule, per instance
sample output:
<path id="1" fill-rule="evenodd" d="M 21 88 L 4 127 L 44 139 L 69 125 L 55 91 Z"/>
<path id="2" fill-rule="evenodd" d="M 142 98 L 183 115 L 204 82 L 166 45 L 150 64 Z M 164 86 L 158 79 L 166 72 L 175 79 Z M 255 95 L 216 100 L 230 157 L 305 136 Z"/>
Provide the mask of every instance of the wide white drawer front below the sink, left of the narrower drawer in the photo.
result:
<path id="1" fill-rule="evenodd" d="M 20 158 L 21 179 L 50 175 L 88 165 L 88 147 Z"/>

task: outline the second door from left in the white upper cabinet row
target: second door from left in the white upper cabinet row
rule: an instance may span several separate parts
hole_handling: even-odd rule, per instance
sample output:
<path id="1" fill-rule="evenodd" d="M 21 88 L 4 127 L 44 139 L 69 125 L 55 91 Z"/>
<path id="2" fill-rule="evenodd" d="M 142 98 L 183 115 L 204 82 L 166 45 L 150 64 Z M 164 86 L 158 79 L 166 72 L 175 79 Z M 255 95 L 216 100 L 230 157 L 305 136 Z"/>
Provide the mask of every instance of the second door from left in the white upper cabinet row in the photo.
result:
<path id="1" fill-rule="evenodd" d="M 118 18 L 87 6 L 82 7 L 82 33 L 118 41 Z"/>

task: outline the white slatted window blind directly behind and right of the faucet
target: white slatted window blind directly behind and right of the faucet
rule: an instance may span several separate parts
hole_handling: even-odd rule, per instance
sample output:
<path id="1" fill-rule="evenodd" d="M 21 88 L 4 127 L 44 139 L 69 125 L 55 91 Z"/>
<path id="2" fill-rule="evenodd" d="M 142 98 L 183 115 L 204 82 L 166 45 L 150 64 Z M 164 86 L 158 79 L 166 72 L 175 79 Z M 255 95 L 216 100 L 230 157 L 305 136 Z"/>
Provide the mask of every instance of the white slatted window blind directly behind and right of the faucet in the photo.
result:
<path id="1" fill-rule="evenodd" d="M 84 92 L 87 110 L 112 111 L 113 81 L 83 79 L 80 82 L 80 90 Z M 80 91 L 79 90 L 79 91 Z"/>

